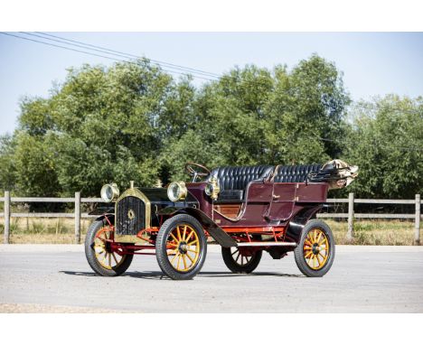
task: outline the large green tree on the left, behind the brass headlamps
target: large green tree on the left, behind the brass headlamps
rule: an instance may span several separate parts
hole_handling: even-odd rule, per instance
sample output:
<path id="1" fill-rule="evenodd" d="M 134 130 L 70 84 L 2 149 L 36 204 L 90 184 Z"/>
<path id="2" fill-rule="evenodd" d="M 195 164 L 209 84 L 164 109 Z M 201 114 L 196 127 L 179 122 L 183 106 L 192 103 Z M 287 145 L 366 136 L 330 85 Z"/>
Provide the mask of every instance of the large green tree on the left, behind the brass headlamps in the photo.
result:
<path id="1" fill-rule="evenodd" d="M 14 135 L 18 191 L 89 196 L 105 182 L 151 185 L 160 119 L 183 108 L 183 88 L 148 61 L 69 70 L 52 97 L 24 99 Z"/>

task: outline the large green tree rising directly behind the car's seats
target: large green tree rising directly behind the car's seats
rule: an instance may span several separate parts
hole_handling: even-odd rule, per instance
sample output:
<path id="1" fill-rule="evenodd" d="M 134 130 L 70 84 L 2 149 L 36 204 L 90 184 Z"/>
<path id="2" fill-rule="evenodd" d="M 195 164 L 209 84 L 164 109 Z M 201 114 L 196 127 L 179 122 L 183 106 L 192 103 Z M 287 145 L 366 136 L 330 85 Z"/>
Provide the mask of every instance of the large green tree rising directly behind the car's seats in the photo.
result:
<path id="1" fill-rule="evenodd" d="M 235 68 L 200 89 L 195 120 L 183 135 L 166 141 L 162 162 L 174 178 L 193 159 L 211 167 L 322 163 L 342 152 L 338 139 L 349 101 L 341 73 L 316 55 L 292 71 Z"/>

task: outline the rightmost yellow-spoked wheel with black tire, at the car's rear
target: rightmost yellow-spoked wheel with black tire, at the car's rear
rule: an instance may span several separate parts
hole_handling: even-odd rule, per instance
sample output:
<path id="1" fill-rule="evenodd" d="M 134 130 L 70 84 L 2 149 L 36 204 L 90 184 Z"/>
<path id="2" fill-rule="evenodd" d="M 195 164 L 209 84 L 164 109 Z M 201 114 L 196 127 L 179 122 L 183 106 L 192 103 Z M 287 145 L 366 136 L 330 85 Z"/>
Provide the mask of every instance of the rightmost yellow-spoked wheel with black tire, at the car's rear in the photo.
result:
<path id="1" fill-rule="evenodd" d="M 295 250 L 296 265 L 307 276 L 323 276 L 334 262 L 334 236 L 322 220 L 305 224 L 300 243 Z"/>

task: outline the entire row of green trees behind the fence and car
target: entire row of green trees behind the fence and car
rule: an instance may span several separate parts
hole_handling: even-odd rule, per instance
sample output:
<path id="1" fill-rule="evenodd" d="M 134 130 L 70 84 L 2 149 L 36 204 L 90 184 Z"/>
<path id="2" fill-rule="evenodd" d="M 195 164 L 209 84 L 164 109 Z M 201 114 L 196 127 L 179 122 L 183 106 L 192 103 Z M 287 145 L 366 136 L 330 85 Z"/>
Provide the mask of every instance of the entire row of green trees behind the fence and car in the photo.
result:
<path id="1" fill-rule="evenodd" d="M 358 195 L 409 197 L 422 190 L 421 100 L 377 99 L 349 121 L 342 73 L 317 55 L 292 70 L 235 68 L 199 89 L 146 60 L 84 65 L 69 70 L 51 97 L 24 98 L 19 128 L 0 138 L 0 187 L 97 196 L 105 182 L 125 189 L 130 180 L 187 180 L 186 162 L 341 158 L 361 168 L 350 188 Z"/>

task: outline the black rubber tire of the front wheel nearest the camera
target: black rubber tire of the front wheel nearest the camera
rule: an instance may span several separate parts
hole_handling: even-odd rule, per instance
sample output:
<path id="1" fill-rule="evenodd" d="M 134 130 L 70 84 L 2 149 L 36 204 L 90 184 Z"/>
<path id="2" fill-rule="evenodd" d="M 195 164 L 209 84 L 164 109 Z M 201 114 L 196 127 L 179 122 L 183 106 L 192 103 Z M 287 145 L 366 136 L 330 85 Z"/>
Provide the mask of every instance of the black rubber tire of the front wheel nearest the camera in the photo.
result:
<path id="1" fill-rule="evenodd" d="M 190 225 L 197 234 L 200 242 L 199 258 L 193 268 L 186 272 L 180 272 L 176 270 L 174 266 L 172 266 L 169 261 L 169 257 L 167 256 L 166 248 L 169 234 L 177 225 L 181 224 Z M 162 269 L 164 275 L 167 275 L 169 278 L 174 280 L 193 279 L 193 277 L 201 271 L 207 256 L 207 239 L 204 235 L 202 224 L 200 224 L 197 219 L 187 214 L 178 214 L 170 219 L 165 220 L 162 227 L 158 231 L 157 238 L 155 240 L 155 256 L 157 258 L 157 263 Z"/>

